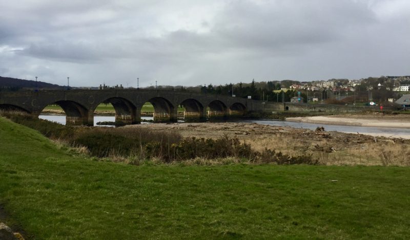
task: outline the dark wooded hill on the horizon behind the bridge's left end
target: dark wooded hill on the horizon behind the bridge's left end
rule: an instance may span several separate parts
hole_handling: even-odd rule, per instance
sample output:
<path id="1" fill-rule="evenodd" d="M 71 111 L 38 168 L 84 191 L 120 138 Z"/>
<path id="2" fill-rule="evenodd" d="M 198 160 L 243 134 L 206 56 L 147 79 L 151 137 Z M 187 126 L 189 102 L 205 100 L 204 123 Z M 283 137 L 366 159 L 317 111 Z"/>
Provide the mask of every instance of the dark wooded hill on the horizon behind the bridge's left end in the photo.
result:
<path id="1" fill-rule="evenodd" d="M 60 86 L 57 84 L 51 84 L 47 82 L 41 82 L 41 81 L 33 81 L 33 80 L 23 80 L 23 79 L 17 79 L 17 78 L 11 78 L 11 77 L 1 77 L 0 76 L 0 88 L 1 89 L 12 89 L 12 90 L 18 90 L 18 89 L 64 89 L 64 86 Z"/>

